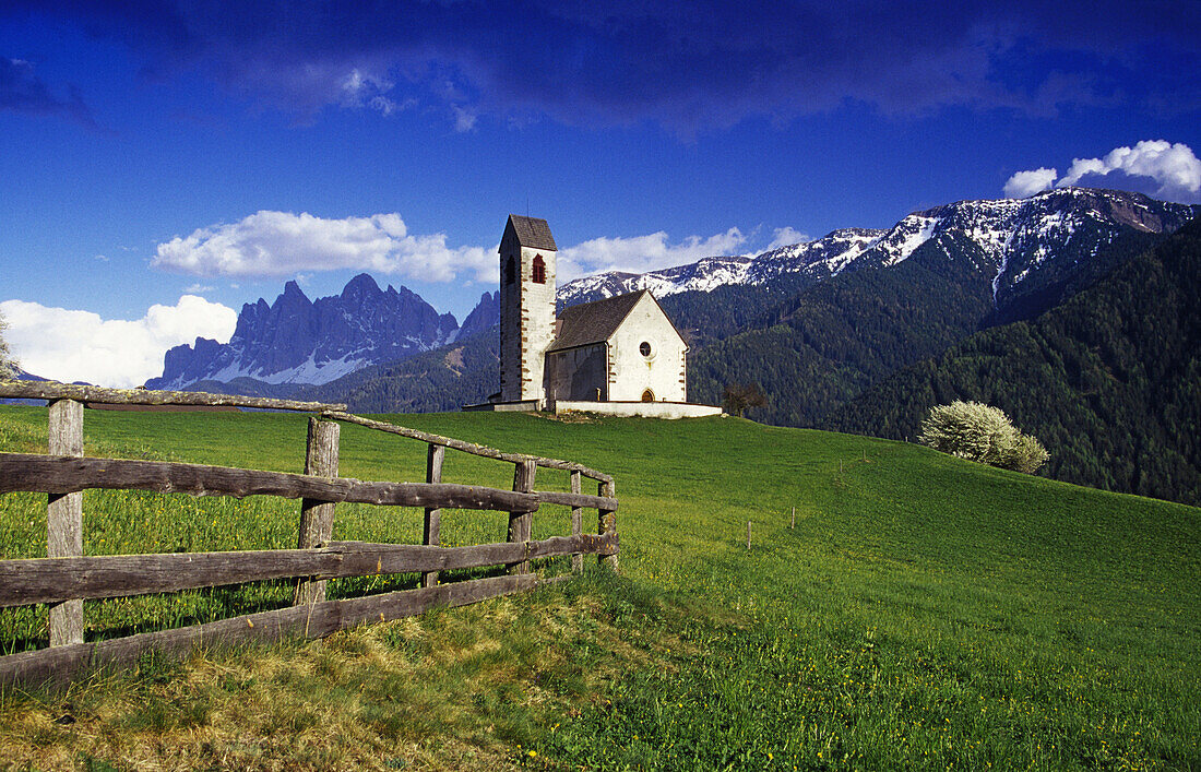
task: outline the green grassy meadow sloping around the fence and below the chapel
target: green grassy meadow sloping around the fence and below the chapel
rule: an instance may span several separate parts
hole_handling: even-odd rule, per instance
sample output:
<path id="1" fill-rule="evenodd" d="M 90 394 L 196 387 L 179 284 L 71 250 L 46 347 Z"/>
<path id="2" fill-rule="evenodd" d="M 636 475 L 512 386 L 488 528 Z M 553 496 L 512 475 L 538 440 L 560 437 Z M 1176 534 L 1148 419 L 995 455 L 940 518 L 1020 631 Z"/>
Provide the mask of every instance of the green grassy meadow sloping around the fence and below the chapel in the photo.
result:
<path id="1" fill-rule="evenodd" d="M 384 420 L 613 474 L 621 576 L 8 690 L 0 766 L 1201 768 L 1199 509 L 733 418 Z M 89 411 L 84 431 L 89 455 L 297 472 L 305 424 Z M 0 407 L 0 450 L 44 449 L 44 408 Z M 424 460 L 423 443 L 342 426 L 343 477 L 420 480 Z M 446 481 L 512 474 L 447 451 Z M 567 490 L 567 474 L 539 469 L 537 487 Z M 88 491 L 85 551 L 291 547 L 298 515 L 264 497 Z M 534 538 L 568 520 L 544 507 Z M 442 528 L 443 544 L 502 540 L 506 517 L 452 511 Z M 335 539 L 420 534 L 418 510 L 337 507 Z M 44 496 L 0 496 L 0 557 L 44 551 Z M 261 582 L 89 602 L 88 635 L 289 598 Z M 44 609 L 0 610 L 4 653 L 46 636 Z"/>

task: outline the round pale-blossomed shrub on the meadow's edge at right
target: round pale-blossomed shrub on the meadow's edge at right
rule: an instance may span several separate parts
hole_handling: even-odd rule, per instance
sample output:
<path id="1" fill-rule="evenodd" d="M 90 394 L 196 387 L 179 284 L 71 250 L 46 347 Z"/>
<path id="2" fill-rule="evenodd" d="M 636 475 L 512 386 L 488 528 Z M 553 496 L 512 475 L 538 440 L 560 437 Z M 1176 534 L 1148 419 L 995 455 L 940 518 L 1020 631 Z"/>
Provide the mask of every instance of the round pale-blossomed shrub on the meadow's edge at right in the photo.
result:
<path id="1" fill-rule="evenodd" d="M 981 402 L 956 400 L 930 408 L 918 439 L 934 450 L 1027 474 L 1050 457 L 1042 443 L 1020 432 L 1004 411 Z"/>

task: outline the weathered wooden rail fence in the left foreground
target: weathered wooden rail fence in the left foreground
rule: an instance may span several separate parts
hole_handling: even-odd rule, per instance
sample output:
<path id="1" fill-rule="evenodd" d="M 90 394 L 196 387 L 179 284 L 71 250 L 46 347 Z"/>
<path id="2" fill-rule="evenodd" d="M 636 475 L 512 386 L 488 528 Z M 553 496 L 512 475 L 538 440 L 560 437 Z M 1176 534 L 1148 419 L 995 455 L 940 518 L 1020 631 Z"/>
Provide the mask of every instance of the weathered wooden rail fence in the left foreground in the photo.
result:
<path id="1" fill-rule="evenodd" d="M 0 686 L 65 682 L 101 665 L 129 665 L 143 652 L 186 653 L 193 647 L 323 638 L 365 622 L 422 614 L 531 590 L 538 577 L 531 559 L 572 556 L 581 570 L 584 555 L 597 555 L 617 570 L 617 499 L 614 479 L 569 461 L 502 453 L 352 415 L 345 405 L 269 400 L 190 391 L 100 389 L 44 382 L 0 383 L 0 397 L 49 402 L 47 455 L 0 453 L 0 493 L 47 493 L 44 558 L 0 559 L 0 606 L 49 604 L 49 647 L 0 657 Z M 90 405 L 234 406 L 317 413 L 309 419 L 304 474 L 196 463 L 130 461 L 83 456 L 83 408 Z M 341 423 L 358 424 L 428 444 L 424 483 L 377 483 L 337 477 Z M 452 448 L 514 465 L 513 490 L 442 481 L 442 461 Z M 570 492 L 538 491 L 538 467 L 569 473 Z M 597 483 L 585 495 L 581 478 Z M 184 492 L 193 496 L 281 496 L 300 499 L 294 550 L 181 552 L 160 555 L 83 555 L 84 489 Z M 424 509 L 423 544 L 331 541 L 334 508 L 359 502 Z M 572 509 L 570 535 L 531 540 L 539 504 Z M 508 514 L 508 541 L 440 546 L 442 509 L 482 509 Z M 598 514 L 597 533 L 584 533 L 582 510 Z M 502 576 L 438 584 L 449 569 L 506 565 Z M 420 587 L 343 600 L 325 600 L 325 581 L 347 576 L 420 573 Z M 294 605 L 193 627 L 84 642 L 83 600 L 118 598 L 247 581 L 293 579 Z"/>

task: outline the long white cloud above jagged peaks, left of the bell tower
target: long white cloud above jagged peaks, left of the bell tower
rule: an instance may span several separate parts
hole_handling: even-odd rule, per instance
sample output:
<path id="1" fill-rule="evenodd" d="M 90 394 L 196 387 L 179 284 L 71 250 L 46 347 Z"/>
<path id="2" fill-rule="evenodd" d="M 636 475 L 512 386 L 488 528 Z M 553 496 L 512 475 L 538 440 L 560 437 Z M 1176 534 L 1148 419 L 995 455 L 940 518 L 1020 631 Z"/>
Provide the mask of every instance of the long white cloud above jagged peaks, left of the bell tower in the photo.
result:
<path id="1" fill-rule="evenodd" d="M 496 259 L 483 247 L 448 247 L 444 233 L 413 235 L 398 214 L 325 220 L 259 211 L 160 244 L 151 265 L 196 276 L 291 276 L 354 269 L 420 281 L 495 282 Z"/>

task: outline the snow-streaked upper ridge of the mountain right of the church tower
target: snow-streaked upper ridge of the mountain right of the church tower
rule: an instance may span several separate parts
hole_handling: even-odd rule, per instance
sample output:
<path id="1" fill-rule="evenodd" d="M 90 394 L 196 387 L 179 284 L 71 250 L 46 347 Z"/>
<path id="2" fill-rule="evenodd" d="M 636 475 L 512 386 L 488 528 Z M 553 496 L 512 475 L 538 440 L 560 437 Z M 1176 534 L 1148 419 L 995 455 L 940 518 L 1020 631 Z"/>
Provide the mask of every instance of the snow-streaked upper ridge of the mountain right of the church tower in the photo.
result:
<path id="1" fill-rule="evenodd" d="M 1048 269 L 1063 271 L 1064 261 L 1087 259 L 1123 233 L 1172 232 L 1197 214 L 1201 207 L 1075 187 L 1022 199 L 962 201 L 914 213 L 891 228 L 844 228 L 757 257 L 710 257 L 647 274 L 576 279 L 558 288 L 558 303 L 574 305 L 640 289 L 659 298 L 710 292 L 723 285 L 764 285 L 783 274 L 817 282 L 844 270 L 898 265 L 927 243 L 952 259 L 969 255 L 991 279 L 999 303 L 1023 282 Z"/>

